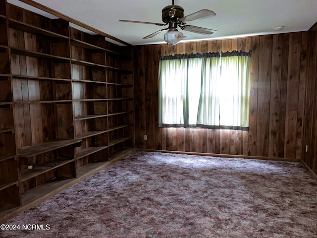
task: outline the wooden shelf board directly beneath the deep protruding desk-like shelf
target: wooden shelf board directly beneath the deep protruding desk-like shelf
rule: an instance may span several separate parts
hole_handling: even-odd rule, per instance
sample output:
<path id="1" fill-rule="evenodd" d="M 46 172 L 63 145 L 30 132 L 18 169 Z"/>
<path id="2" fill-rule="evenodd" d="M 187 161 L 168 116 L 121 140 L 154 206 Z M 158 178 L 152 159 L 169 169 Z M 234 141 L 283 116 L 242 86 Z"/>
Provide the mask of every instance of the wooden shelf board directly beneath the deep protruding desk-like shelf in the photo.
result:
<path id="1" fill-rule="evenodd" d="M 36 176 L 39 176 L 39 175 L 42 175 L 46 172 L 49 172 L 51 170 L 54 170 L 58 167 L 61 167 L 63 165 L 66 165 L 66 164 L 69 164 L 73 161 L 75 161 L 74 159 L 55 159 L 53 160 L 53 162 L 50 162 L 50 163 L 46 163 L 46 164 L 43 164 L 43 165 L 39 165 L 39 166 L 36 166 L 36 167 L 33 167 L 33 169 L 31 170 L 24 170 L 21 172 L 21 182 L 23 181 L 26 181 L 28 179 L 32 179 Z M 74 165 L 75 166 L 75 165 Z"/>

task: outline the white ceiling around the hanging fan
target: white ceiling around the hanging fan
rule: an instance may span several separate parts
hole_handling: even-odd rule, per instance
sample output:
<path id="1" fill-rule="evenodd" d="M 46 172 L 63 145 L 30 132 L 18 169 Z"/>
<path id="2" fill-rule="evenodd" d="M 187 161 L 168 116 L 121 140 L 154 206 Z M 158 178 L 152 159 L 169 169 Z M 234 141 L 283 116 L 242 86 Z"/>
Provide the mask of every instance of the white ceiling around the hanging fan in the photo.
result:
<path id="1" fill-rule="evenodd" d="M 19 0 L 7 1 L 29 8 Z M 119 22 L 119 20 L 162 23 L 161 9 L 172 3 L 171 0 L 35 0 L 34 2 L 131 45 L 163 43 L 163 33 L 151 39 L 142 38 L 166 27 Z M 190 25 L 217 30 L 216 34 L 206 36 L 184 31 L 183 34 L 187 37 L 183 41 L 306 31 L 317 22 L 317 0 L 175 0 L 174 4 L 182 6 L 185 15 L 204 8 L 216 13 L 213 17 L 190 22 Z M 284 29 L 276 32 L 274 31 L 276 26 L 284 26 Z"/>

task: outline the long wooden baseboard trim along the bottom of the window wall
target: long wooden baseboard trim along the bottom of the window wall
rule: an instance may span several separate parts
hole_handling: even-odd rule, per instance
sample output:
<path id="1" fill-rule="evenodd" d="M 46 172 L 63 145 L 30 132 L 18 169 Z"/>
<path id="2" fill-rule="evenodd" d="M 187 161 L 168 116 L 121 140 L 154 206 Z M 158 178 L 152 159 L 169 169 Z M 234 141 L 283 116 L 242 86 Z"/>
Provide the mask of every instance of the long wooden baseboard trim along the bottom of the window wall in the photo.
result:
<path id="1" fill-rule="evenodd" d="M 183 155 L 202 155 L 202 156 L 212 156 L 212 157 L 221 157 L 221 158 L 236 158 L 236 159 L 256 159 L 256 160 L 301 162 L 301 159 L 264 157 L 264 156 L 249 156 L 249 155 L 213 154 L 213 153 L 200 153 L 200 152 L 174 151 L 174 150 L 135 149 L 135 151 L 162 152 L 162 153 L 174 153 L 174 154 L 183 154 Z"/>

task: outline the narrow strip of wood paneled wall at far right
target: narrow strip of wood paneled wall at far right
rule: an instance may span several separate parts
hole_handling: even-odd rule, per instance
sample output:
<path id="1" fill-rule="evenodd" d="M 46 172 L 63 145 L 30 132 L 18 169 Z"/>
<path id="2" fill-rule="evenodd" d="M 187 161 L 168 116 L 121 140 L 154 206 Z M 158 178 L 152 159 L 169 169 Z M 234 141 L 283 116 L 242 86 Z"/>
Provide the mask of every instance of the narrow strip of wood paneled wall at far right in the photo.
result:
<path id="1" fill-rule="evenodd" d="M 317 25 L 309 31 L 303 161 L 317 175 Z M 307 152 L 306 152 L 307 145 Z"/>

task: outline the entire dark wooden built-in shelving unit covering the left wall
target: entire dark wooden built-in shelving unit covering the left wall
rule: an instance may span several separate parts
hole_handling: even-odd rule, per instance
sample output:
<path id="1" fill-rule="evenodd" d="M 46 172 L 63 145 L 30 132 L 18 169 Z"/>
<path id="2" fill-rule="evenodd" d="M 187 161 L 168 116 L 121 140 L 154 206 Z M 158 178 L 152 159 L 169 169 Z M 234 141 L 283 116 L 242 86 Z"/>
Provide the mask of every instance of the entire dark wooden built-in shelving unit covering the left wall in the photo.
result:
<path id="1" fill-rule="evenodd" d="M 133 52 L 0 0 L 0 222 L 134 149 Z"/>

